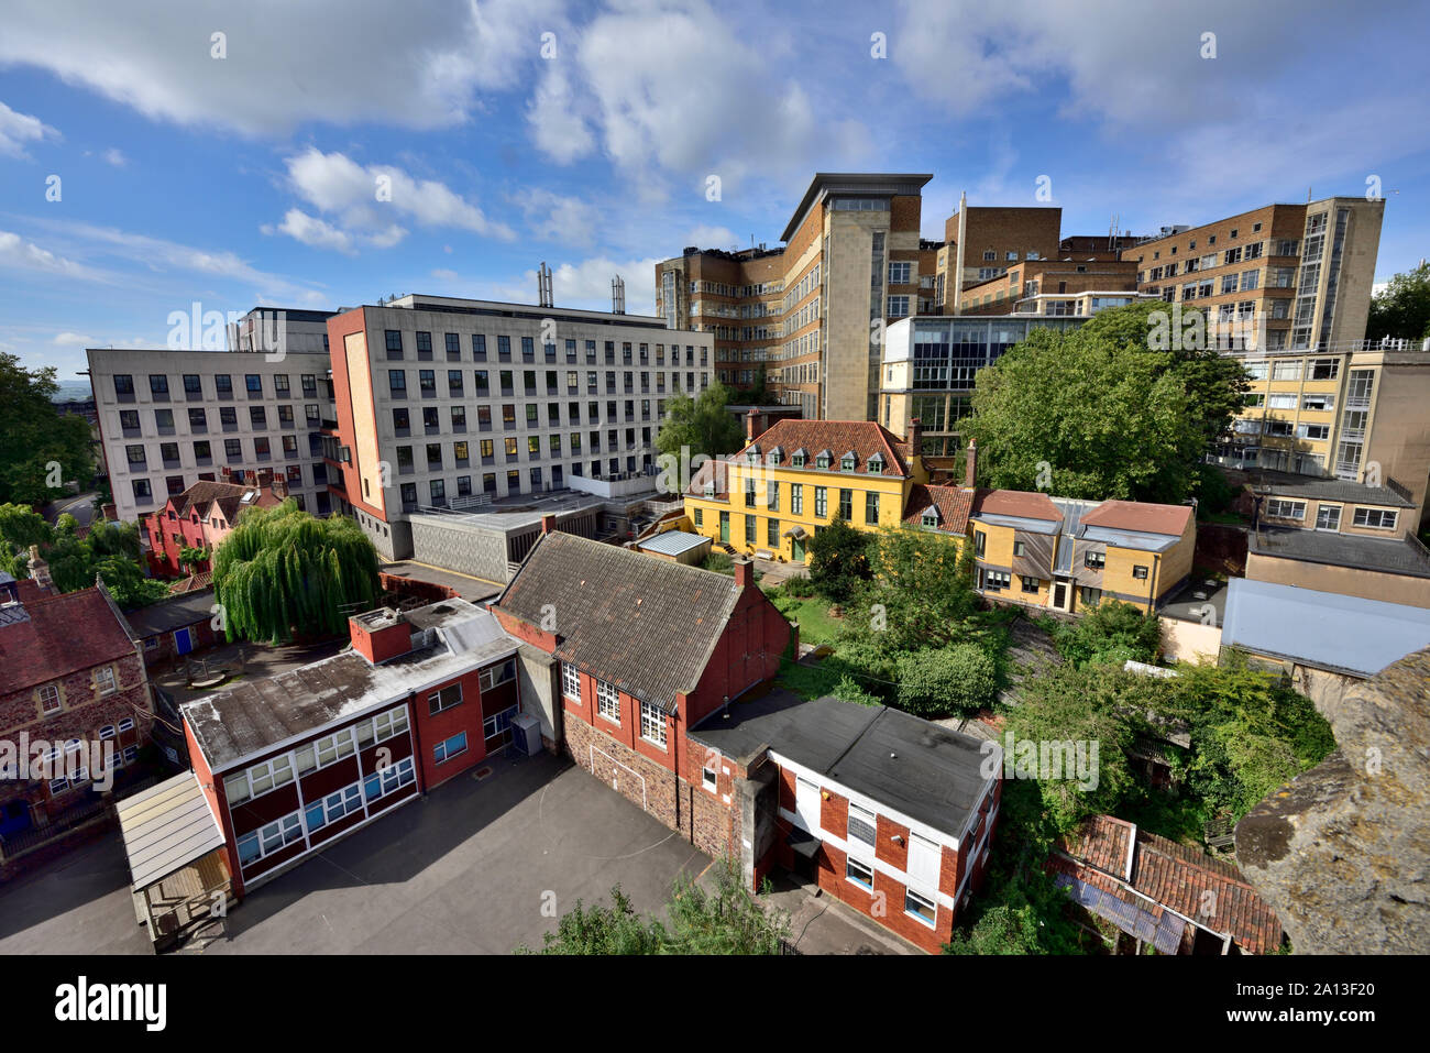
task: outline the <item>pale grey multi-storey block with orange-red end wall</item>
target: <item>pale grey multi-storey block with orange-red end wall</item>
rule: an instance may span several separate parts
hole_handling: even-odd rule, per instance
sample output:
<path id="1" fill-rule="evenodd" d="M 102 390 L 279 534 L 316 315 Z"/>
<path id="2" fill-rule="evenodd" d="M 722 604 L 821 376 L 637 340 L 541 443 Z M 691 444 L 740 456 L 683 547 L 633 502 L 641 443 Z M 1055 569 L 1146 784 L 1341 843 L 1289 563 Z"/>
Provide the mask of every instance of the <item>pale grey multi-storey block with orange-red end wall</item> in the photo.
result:
<path id="1" fill-rule="evenodd" d="M 664 319 L 409 295 L 327 322 L 340 506 L 386 558 L 409 515 L 656 471 L 665 403 L 712 376 L 709 333 Z M 575 481 L 575 482 L 573 482 Z"/>

